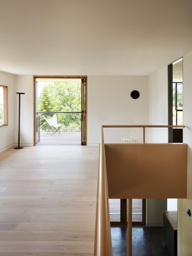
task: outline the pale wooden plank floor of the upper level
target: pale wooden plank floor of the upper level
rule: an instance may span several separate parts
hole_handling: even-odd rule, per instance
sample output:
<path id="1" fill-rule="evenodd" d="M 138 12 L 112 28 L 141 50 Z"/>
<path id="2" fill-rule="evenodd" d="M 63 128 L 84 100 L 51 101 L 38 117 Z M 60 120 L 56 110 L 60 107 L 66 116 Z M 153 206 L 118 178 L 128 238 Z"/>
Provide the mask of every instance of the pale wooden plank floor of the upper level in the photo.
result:
<path id="1" fill-rule="evenodd" d="M 0 154 L 0 255 L 93 255 L 98 148 Z"/>

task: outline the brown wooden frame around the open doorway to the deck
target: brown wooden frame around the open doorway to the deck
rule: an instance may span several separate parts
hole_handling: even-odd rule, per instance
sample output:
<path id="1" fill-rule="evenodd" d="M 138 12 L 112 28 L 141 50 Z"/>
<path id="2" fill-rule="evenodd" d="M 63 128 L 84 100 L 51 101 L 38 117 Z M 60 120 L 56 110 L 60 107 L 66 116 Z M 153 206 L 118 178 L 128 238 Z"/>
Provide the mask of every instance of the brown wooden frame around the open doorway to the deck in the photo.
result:
<path id="1" fill-rule="evenodd" d="M 84 118 L 85 118 L 85 131 L 84 131 L 84 145 L 87 144 L 87 84 L 88 84 L 88 77 L 87 76 L 46 76 L 46 75 L 34 75 L 33 76 L 33 145 L 36 145 L 36 79 L 37 78 L 71 78 L 71 79 L 86 79 L 86 91 L 84 92 L 84 96 L 86 97 L 86 100 L 84 102 Z M 82 95 L 81 95 L 81 100 L 82 100 Z M 82 140 L 82 138 L 81 138 Z M 82 141 L 81 141 L 82 142 Z"/>

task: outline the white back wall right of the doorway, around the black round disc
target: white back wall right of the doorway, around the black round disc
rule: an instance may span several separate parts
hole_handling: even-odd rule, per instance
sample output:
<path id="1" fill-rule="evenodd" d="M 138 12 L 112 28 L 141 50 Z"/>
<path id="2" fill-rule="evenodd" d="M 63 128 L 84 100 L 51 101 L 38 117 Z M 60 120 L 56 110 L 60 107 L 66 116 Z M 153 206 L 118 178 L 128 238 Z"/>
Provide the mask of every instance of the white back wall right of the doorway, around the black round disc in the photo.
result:
<path id="1" fill-rule="evenodd" d="M 131 98 L 133 90 L 139 91 L 138 99 Z M 100 143 L 101 125 L 134 124 L 134 120 L 148 124 L 147 76 L 88 77 L 88 145 Z M 123 142 L 126 130 L 105 129 L 105 142 Z"/>

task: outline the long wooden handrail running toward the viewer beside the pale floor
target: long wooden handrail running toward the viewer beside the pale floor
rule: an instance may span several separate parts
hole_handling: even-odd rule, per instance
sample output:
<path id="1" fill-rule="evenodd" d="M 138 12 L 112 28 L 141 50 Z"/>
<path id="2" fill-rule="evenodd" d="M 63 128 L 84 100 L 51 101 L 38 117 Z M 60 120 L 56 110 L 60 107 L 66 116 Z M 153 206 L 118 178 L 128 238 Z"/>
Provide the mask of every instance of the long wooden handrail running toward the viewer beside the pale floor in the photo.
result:
<path id="1" fill-rule="evenodd" d="M 94 256 L 112 256 L 112 239 L 109 210 L 108 180 L 106 177 L 106 161 L 104 150 L 103 127 L 101 127 L 101 143 L 99 152 L 99 172 L 97 183 L 97 206 L 95 222 Z"/>

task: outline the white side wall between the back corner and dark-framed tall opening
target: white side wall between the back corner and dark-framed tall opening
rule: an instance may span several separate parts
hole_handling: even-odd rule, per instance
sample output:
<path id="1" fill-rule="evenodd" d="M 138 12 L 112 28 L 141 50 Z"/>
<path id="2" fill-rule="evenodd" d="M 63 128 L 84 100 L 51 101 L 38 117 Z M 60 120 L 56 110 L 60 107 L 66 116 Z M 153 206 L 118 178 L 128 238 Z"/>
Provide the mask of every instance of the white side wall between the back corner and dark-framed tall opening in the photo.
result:
<path id="1" fill-rule="evenodd" d="M 168 74 L 167 67 L 150 75 L 149 78 L 149 122 L 168 124 Z M 167 129 L 150 129 L 150 142 L 168 142 Z"/>

